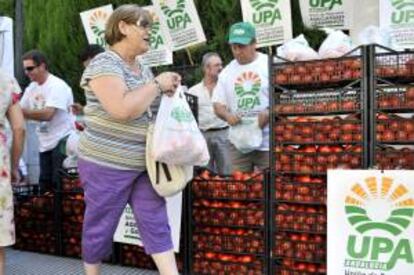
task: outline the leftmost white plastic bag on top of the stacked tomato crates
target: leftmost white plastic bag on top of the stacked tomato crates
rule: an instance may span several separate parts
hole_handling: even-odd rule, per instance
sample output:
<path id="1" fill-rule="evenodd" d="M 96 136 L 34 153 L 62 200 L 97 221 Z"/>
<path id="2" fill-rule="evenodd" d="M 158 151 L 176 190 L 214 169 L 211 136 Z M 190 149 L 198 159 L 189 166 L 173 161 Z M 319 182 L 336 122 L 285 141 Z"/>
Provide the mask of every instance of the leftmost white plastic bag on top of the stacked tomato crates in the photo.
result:
<path id="1" fill-rule="evenodd" d="M 278 47 L 277 55 L 289 61 L 305 61 L 319 58 L 318 53 L 309 46 L 303 34 Z"/>

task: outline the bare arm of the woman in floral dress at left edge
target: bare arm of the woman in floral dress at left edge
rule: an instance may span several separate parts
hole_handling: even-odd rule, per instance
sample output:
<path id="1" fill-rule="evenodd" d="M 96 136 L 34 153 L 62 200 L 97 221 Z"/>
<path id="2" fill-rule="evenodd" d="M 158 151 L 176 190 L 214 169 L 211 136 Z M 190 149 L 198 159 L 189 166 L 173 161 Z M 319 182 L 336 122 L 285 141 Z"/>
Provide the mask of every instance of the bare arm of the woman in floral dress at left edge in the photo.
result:
<path id="1" fill-rule="evenodd" d="M 20 156 L 23 152 L 24 138 L 25 138 L 25 123 L 23 112 L 18 103 L 11 104 L 7 110 L 7 118 L 10 122 L 10 127 L 13 134 L 13 143 L 11 149 L 11 174 L 12 179 L 18 179 L 18 168 Z"/>

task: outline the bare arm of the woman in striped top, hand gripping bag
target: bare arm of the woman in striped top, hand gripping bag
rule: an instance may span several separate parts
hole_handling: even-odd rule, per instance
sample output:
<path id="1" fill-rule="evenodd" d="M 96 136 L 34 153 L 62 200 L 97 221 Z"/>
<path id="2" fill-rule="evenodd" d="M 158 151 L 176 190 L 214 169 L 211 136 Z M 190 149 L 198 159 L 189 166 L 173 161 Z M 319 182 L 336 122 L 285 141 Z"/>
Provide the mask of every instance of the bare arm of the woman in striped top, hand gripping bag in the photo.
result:
<path id="1" fill-rule="evenodd" d="M 171 95 L 171 91 L 175 91 L 180 82 L 180 75 L 165 72 L 154 81 L 132 91 L 128 91 L 124 81 L 117 76 L 92 79 L 89 87 L 113 118 L 128 121 L 141 116 L 161 92 Z"/>

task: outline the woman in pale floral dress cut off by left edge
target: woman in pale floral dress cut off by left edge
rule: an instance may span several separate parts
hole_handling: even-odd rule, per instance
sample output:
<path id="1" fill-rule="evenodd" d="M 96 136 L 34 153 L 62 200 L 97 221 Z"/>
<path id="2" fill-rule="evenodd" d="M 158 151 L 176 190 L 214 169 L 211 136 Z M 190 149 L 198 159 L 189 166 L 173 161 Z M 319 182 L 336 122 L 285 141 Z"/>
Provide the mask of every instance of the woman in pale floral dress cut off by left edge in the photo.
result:
<path id="1" fill-rule="evenodd" d="M 11 180 L 20 180 L 19 159 L 25 134 L 19 93 L 16 80 L 0 71 L 0 274 L 4 274 L 4 247 L 15 242 Z M 11 157 L 4 128 L 6 118 L 13 136 Z"/>

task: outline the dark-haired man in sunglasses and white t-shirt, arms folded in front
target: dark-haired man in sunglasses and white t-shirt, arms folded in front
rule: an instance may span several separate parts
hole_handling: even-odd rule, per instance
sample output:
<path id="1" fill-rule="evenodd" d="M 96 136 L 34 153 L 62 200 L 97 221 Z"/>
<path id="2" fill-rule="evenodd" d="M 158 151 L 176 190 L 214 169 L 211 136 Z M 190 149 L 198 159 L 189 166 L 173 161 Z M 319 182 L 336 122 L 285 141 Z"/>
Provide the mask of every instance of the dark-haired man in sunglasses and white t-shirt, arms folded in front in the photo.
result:
<path id="1" fill-rule="evenodd" d="M 37 50 L 25 53 L 23 68 L 32 81 L 20 101 L 24 117 L 38 121 L 40 177 L 42 192 L 56 188 L 59 169 L 66 157 L 66 138 L 74 130 L 72 89 L 48 71 L 44 54 Z"/>

